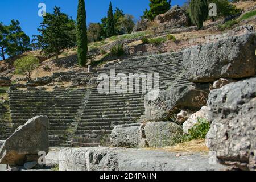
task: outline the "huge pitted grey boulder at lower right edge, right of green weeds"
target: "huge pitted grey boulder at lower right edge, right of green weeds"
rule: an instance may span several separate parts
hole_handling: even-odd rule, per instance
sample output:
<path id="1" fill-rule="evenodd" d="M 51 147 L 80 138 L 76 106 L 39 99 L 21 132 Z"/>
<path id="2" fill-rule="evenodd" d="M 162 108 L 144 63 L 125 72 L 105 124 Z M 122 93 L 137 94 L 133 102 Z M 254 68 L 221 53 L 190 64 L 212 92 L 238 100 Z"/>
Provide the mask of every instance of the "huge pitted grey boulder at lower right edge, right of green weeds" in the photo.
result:
<path id="1" fill-rule="evenodd" d="M 213 113 L 207 146 L 221 164 L 256 169 L 256 78 L 214 89 L 207 102 Z"/>

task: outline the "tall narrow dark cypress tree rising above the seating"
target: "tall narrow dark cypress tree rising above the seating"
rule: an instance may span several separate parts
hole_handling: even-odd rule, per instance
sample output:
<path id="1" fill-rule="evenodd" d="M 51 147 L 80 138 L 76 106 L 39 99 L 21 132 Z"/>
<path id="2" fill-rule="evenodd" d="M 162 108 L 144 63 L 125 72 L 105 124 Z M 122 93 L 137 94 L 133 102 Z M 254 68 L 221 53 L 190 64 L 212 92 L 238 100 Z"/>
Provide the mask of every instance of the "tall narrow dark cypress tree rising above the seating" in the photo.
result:
<path id="1" fill-rule="evenodd" d="M 85 67 L 87 62 L 88 42 L 86 28 L 86 11 L 84 0 L 79 0 L 77 9 L 77 57 L 80 67 Z"/>

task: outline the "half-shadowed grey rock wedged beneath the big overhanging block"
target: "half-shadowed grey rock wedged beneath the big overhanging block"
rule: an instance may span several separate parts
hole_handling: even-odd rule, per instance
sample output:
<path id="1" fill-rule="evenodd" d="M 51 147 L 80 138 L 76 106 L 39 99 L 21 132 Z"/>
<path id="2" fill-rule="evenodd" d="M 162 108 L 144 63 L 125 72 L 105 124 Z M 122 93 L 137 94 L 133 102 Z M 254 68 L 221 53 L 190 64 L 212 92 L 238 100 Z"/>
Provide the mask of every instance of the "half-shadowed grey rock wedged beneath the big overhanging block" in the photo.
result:
<path id="1" fill-rule="evenodd" d="M 145 118 L 150 121 L 165 121 L 177 114 L 179 109 L 200 110 L 207 102 L 209 84 L 191 84 L 170 87 L 160 91 L 156 100 L 144 99 Z"/>

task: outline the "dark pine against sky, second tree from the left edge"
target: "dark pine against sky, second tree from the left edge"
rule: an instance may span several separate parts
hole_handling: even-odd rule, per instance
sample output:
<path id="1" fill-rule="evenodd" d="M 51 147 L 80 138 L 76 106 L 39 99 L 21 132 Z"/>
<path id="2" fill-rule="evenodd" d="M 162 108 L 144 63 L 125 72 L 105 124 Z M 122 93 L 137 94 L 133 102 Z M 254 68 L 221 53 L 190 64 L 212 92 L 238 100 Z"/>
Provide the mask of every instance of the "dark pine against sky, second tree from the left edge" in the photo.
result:
<path id="1" fill-rule="evenodd" d="M 30 37 L 22 31 L 18 20 L 11 20 L 8 34 L 7 55 L 13 57 L 31 50 Z"/>

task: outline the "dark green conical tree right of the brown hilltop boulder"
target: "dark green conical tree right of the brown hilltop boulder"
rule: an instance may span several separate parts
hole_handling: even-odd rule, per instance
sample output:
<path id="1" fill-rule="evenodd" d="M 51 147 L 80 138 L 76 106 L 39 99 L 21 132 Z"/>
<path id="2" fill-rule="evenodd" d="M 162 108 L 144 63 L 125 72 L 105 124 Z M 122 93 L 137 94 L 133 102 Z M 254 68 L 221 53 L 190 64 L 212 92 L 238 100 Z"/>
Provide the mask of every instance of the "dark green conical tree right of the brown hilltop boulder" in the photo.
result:
<path id="1" fill-rule="evenodd" d="M 189 4 L 189 16 L 199 29 L 203 28 L 203 23 L 208 16 L 207 0 L 192 0 Z"/>

